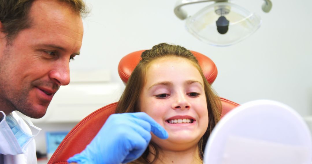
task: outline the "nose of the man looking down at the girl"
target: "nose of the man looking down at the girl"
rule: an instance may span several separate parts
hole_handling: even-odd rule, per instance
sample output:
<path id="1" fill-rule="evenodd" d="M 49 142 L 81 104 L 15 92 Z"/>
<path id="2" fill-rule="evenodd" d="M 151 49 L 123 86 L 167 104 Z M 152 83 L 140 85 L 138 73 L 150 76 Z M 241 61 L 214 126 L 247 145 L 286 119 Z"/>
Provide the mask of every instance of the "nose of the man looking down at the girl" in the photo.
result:
<path id="1" fill-rule="evenodd" d="M 71 81 L 69 73 L 69 61 L 58 62 L 49 73 L 50 79 L 58 85 L 68 85 Z"/>

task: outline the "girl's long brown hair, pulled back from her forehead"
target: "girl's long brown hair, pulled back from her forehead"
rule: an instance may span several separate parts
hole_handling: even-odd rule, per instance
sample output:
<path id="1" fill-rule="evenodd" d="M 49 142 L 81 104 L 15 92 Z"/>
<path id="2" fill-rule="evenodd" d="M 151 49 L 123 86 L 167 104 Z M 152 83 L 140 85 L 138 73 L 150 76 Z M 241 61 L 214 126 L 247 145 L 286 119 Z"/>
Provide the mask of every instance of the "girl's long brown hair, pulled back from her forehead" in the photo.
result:
<path id="1" fill-rule="evenodd" d="M 124 93 L 121 95 L 115 113 L 141 112 L 139 108 L 139 98 L 145 83 L 146 71 L 153 61 L 162 57 L 181 57 L 184 59 L 188 59 L 202 75 L 209 116 L 209 124 L 206 133 L 198 142 L 198 153 L 199 157 L 202 159 L 207 139 L 212 132 L 212 129 L 215 127 L 220 119 L 221 102 L 219 101 L 219 97 L 217 96 L 217 94 L 214 93 L 211 85 L 207 82 L 196 57 L 194 57 L 192 52 L 188 51 L 186 48 L 178 45 L 171 45 L 168 43 L 160 43 L 158 45 L 155 45 L 152 49 L 144 51 L 141 55 L 142 59 L 140 60 L 139 64 L 134 68 L 134 71 L 132 72 L 126 84 L 126 88 L 124 90 Z M 149 151 L 149 147 L 153 148 L 155 152 L 155 158 L 152 161 L 149 161 L 147 158 L 149 153 L 151 153 Z M 149 143 L 149 147 L 145 150 L 141 157 L 131 163 L 154 163 L 159 157 L 160 150 L 159 147 L 152 141 Z"/>

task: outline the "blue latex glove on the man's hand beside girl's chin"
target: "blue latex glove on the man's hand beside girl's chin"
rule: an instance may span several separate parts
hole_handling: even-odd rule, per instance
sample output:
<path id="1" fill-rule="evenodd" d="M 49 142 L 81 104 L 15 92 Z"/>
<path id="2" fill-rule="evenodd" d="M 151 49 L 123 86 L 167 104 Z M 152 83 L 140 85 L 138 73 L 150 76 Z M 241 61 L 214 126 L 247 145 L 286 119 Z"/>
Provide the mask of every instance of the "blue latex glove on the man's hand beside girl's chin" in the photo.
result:
<path id="1" fill-rule="evenodd" d="M 67 162 L 120 164 L 139 158 L 153 132 L 161 139 L 168 133 L 144 112 L 111 115 L 91 143 Z"/>

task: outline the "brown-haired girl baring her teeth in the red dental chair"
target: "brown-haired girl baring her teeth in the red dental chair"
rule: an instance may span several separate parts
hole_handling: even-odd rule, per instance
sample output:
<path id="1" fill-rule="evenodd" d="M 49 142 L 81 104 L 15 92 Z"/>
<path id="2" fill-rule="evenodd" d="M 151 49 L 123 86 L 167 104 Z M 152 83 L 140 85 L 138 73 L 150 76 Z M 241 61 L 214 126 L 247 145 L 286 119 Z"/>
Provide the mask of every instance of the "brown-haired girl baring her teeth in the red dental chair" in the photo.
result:
<path id="1" fill-rule="evenodd" d="M 221 103 L 187 49 L 160 43 L 141 55 L 116 113 L 145 112 L 168 132 L 152 134 L 143 155 L 131 163 L 202 163 Z"/>

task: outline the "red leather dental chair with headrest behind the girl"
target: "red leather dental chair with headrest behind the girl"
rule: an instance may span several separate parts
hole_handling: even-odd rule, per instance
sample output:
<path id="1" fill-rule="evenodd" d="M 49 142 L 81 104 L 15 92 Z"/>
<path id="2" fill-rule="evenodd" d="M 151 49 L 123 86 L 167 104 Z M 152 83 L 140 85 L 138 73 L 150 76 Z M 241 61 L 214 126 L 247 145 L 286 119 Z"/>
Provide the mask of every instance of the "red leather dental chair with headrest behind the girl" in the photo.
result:
<path id="1" fill-rule="evenodd" d="M 118 73 L 121 80 L 127 83 L 131 72 L 134 67 L 139 63 L 141 53 L 144 50 L 132 52 L 123 57 L 118 66 Z M 217 77 L 217 67 L 212 60 L 205 55 L 192 51 L 197 58 L 202 71 L 207 81 L 212 84 Z M 227 112 L 237 107 L 239 104 L 220 98 L 222 102 L 222 114 L 224 116 Z M 91 113 L 81 120 L 64 138 L 61 144 L 58 146 L 48 164 L 65 164 L 67 159 L 72 157 L 76 153 L 80 153 L 85 149 L 91 140 L 98 133 L 100 128 L 105 123 L 106 119 L 115 112 L 118 102 L 111 103 L 105 107 L 102 107 L 95 112 Z"/>

